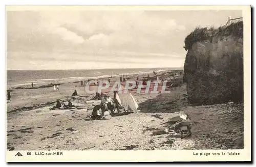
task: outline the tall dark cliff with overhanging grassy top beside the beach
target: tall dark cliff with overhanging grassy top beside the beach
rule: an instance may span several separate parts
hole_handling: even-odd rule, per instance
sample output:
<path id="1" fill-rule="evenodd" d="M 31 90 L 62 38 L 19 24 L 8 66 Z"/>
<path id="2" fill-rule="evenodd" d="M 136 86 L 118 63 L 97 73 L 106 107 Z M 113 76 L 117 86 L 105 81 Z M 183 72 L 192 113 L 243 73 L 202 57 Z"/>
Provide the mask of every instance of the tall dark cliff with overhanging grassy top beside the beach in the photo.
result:
<path id="1" fill-rule="evenodd" d="M 191 104 L 243 101 L 243 21 L 197 27 L 185 39 L 184 80 Z"/>

